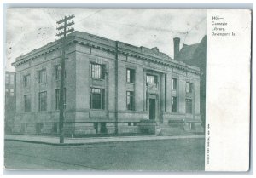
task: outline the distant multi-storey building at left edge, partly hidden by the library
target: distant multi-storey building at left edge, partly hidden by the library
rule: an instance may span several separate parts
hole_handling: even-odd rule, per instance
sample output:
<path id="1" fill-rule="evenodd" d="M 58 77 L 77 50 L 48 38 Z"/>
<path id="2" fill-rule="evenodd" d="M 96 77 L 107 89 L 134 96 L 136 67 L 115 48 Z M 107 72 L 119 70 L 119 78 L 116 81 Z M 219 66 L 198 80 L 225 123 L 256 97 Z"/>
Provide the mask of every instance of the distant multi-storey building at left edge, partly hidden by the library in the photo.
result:
<path id="1" fill-rule="evenodd" d="M 15 72 L 5 72 L 5 112 L 4 112 L 4 130 L 9 134 L 12 132 L 15 121 Z"/>

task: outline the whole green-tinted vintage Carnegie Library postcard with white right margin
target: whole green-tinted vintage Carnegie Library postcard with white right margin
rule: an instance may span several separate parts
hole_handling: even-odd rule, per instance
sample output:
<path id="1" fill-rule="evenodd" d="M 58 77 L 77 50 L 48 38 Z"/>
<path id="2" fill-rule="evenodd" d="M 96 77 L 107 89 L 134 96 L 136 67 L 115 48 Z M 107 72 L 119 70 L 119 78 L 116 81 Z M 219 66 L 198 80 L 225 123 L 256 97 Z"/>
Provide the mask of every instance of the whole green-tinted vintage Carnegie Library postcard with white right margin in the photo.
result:
<path id="1" fill-rule="evenodd" d="M 6 8 L 4 169 L 247 171 L 251 15 Z"/>

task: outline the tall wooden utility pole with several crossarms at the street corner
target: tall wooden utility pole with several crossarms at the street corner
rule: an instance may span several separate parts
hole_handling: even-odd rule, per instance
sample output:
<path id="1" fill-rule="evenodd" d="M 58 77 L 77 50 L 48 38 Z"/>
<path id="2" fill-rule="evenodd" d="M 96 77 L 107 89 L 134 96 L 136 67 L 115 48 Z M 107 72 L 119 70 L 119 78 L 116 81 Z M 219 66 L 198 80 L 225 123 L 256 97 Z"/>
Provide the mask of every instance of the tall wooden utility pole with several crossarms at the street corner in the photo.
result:
<path id="1" fill-rule="evenodd" d="M 68 28 L 68 26 L 74 25 L 74 22 L 68 22 L 67 20 L 71 20 L 74 18 L 74 15 L 65 16 L 64 19 L 57 21 L 58 25 L 61 26 L 57 27 L 58 31 L 61 31 L 56 34 L 57 37 L 61 38 L 62 43 L 62 55 L 61 55 L 61 89 L 60 89 L 60 120 L 59 120 L 59 134 L 60 134 L 60 143 L 64 143 L 64 132 L 63 132 L 63 125 L 64 125 L 64 80 L 65 80 L 65 48 L 66 48 L 66 37 L 67 34 L 73 32 L 73 28 Z M 62 30 L 63 29 L 63 30 Z"/>

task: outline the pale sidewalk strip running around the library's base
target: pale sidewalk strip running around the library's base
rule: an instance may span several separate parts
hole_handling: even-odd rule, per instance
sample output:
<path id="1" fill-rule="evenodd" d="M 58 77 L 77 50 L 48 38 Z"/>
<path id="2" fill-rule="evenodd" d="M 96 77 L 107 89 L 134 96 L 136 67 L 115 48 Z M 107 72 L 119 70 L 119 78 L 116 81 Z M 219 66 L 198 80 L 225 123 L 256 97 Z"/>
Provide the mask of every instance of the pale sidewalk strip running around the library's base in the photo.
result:
<path id="1" fill-rule="evenodd" d="M 5 135 L 5 141 L 25 141 L 32 143 L 44 143 L 48 145 L 84 145 L 96 143 L 108 143 L 119 141 L 158 141 L 158 140 L 172 140 L 172 139 L 194 139 L 205 138 L 205 135 L 180 135 L 180 136 L 114 136 L 114 137 L 90 137 L 90 138 L 65 138 L 64 143 L 59 143 L 59 137 L 53 136 L 38 136 L 38 135 Z"/>

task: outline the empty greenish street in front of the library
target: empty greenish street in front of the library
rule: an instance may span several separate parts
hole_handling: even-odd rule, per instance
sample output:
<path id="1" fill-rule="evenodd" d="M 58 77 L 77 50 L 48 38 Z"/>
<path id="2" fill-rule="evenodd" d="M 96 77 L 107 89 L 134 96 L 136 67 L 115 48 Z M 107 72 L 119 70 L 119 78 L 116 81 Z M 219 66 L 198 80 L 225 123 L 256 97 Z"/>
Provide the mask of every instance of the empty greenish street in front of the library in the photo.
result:
<path id="1" fill-rule="evenodd" d="M 51 146 L 4 142 L 6 169 L 112 171 L 204 170 L 204 139 L 128 141 Z"/>

